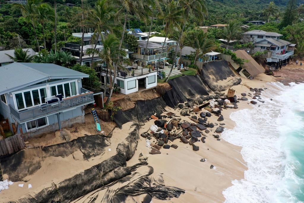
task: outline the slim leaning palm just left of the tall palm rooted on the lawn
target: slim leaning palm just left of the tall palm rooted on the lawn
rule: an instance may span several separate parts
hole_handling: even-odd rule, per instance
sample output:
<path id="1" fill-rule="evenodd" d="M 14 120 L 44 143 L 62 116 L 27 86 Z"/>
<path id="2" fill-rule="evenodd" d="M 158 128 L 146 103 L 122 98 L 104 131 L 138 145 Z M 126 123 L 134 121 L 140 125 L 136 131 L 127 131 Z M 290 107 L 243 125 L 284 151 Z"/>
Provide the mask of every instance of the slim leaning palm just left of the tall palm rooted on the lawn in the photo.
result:
<path id="1" fill-rule="evenodd" d="M 164 5 L 164 10 L 163 12 L 159 15 L 160 19 L 163 19 L 163 24 L 165 24 L 165 40 L 163 43 L 163 46 L 161 47 L 161 53 L 163 52 L 164 45 L 166 44 L 168 33 L 173 30 L 173 26 L 176 25 L 176 23 L 181 21 L 181 7 L 177 6 L 174 1 L 171 1 L 168 4 Z M 158 61 L 161 60 L 161 54 L 159 54 Z"/>

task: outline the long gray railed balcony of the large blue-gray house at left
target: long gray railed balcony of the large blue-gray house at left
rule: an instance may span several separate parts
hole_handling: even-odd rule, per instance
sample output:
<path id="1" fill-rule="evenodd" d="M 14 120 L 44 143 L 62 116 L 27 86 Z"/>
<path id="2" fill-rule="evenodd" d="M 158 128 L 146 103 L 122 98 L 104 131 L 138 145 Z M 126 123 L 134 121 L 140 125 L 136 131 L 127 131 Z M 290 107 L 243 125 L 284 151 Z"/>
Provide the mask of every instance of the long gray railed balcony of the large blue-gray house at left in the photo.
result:
<path id="1" fill-rule="evenodd" d="M 25 123 L 36 118 L 57 114 L 70 108 L 94 103 L 93 92 L 88 92 L 88 90 L 83 88 L 81 88 L 81 92 L 82 93 L 80 95 L 63 98 L 61 101 L 32 107 L 27 110 L 18 111 L 12 105 L 9 105 L 9 108 L 12 117 L 14 117 L 19 123 Z"/>

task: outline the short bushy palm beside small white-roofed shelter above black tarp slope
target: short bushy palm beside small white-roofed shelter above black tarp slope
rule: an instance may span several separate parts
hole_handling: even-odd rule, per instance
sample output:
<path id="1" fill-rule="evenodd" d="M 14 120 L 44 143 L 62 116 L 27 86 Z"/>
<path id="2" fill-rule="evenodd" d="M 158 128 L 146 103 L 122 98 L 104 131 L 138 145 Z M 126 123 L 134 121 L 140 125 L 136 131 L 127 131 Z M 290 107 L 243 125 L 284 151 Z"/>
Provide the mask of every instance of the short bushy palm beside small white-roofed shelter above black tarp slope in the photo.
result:
<path id="1" fill-rule="evenodd" d="M 215 40 L 210 38 L 208 39 L 208 34 L 204 33 L 203 30 L 200 30 L 199 32 L 191 32 L 189 33 L 187 40 L 186 40 L 186 46 L 192 47 L 195 51 L 193 51 L 194 54 L 194 65 L 197 62 L 197 58 L 199 56 L 203 56 L 207 52 L 211 51 L 214 47 Z"/>

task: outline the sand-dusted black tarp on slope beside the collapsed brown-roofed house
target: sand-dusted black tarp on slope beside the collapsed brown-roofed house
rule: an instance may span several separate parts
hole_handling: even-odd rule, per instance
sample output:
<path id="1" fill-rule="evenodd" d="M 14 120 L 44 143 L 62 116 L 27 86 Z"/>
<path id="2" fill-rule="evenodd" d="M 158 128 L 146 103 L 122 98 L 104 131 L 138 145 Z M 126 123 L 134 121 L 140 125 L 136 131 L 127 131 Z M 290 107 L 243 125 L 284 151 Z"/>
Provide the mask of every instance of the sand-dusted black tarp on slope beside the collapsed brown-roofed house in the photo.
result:
<path id="1" fill-rule="evenodd" d="M 212 91 L 224 91 L 234 85 L 240 84 L 242 81 L 242 79 L 236 77 L 225 60 L 204 64 L 201 78 Z M 227 81 L 221 82 L 223 80 Z"/>

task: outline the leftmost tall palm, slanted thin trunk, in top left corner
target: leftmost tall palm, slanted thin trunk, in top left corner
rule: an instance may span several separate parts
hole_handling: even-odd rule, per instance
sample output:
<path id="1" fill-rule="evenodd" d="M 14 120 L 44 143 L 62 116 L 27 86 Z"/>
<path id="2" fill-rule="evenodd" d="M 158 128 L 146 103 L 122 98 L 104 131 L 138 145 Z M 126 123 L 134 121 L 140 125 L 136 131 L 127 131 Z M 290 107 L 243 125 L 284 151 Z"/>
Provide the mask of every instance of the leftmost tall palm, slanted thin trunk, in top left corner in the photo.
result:
<path id="1" fill-rule="evenodd" d="M 15 7 L 21 10 L 22 16 L 27 23 L 32 23 L 38 51 L 40 51 L 39 42 L 37 40 L 36 25 L 38 23 L 37 6 L 41 4 L 42 0 L 28 0 L 26 4 L 14 4 Z"/>

